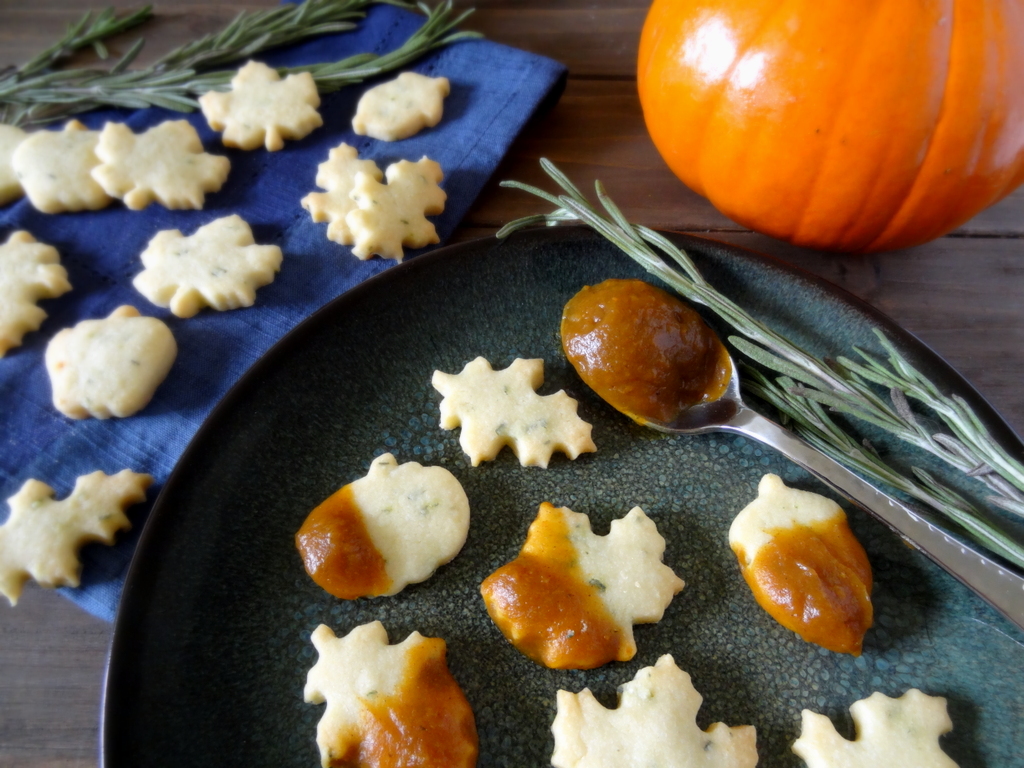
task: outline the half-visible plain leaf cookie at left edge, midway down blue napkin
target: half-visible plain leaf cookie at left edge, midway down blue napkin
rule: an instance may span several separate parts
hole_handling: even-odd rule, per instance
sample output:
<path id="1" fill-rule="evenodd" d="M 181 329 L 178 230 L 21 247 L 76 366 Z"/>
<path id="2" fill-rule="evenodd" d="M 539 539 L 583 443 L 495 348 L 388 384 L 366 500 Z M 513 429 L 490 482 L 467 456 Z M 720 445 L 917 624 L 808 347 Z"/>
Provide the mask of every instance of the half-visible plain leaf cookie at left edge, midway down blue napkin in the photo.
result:
<path id="1" fill-rule="evenodd" d="M 27 231 L 11 232 L 0 246 L 0 357 L 46 318 L 36 306 L 71 290 L 68 272 L 52 246 L 37 243 Z"/>

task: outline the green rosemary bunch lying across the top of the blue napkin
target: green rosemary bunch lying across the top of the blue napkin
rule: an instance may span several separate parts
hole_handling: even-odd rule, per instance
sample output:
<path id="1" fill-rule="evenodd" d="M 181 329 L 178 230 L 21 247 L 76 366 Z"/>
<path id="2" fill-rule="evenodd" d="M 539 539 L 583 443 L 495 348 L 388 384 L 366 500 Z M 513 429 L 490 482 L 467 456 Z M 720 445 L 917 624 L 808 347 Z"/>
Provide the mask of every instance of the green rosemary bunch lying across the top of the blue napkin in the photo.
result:
<path id="1" fill-rule="evenodd" d="M 199 108 L 199 95 L 228 87 L 234 73 L 216 68 L 268 48 L 351 30 L 364 17 L 365 9 L 375 3 L 418 7 L 426 20 L 390 53 L 360 53 L 311 67 L 281 68 L 279 72 L 282 75 L 311 72 L 317 88 L 326 93 L 404 67 L 434 48 L 479 37 L 477 33 L 454 31 L 472 11 L 456 13 L 451 0 L 434 8 L 422 3 L 413 6 L 402 0 L 306 0 L 297 5 L 240 13 L 221 32 L 183 45 L 145 69 L 128 69 L 142 48 L 140 39 L 108 70 L 53 70 L 52 65 L 65 55 L 60 51 L 77 49 L 76 45 L 78 48 L 86 44 L 101 45 L 103 39 L 127 29 L 125 25 L 129 22 L 134 26 L 148 17 L 143 16 L 143 11 L 148 14 L 147 9 L 120 19 L 108 10 L 91 24 L 87 18 L 79 22 L 76 27 L 82 29 L 73 34 L 73 28 L 60 43 L 33 59 L 32 68 L 27 65 L 0 76 L 0 122 L 35 126 L 99 106 L 163 106 L 191 112 Z M 103 23 L 98 24 L 99 19 Z M 84 35 L 83 31 L 90 34 Z M 86 42 L 80 42 L 83 39 Z"/>

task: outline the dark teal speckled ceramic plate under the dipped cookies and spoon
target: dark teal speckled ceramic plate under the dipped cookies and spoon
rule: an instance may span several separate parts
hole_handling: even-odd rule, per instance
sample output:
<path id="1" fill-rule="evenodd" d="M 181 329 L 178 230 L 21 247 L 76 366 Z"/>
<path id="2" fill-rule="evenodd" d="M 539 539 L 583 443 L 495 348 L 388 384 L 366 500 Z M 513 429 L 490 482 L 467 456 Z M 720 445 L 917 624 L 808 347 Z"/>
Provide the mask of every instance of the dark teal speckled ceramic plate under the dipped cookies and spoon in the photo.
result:
<path id="1" fill-rule="evenodd" d="M 933 379 L 1009 428 L 941 359 L 826 283 L 767 257 L 680 240 L 723 292 L 820 353 L 848 353 L 882 326 Z M 310 632 L 380 620 L 392 642 L 442 637 L 476 716 L 481 768 L 549 765 L 555 693 L 590 687 L 605 705 L 637 670 L 671 653 L 713 722 L 757 727 L 760 766 L 800 766 L 790 752 L 801 710 L 851 737 L 848 708 L 910 687 L 948 699 L 943 749 L 964 767 L 1020 765 L 1024 637 L 981 600 L 844 505 L 871 560 L 876 624 L 860 657 L 800 640 L 754 602 L 726 541 L 733 515 L 774 472 L 827 493 L 767 449 L 727 435 L 670 437 L 613 412 L 563 358 L 564 302 L 606 278 L 643 276 L 580 228 L 454 246 L 340 297 L 260 360 L 200 431 L 165 486 L 125 588 L 106 679 L 106 768 L 319 765 L 323 706 L 304 703 L 316 654 Z M 565 389 L 594 425 L 596 454 L 520 467 L 509 451 L 473 468 L 458 430 L 438 427 L 435 369 L 484 355 L 504 368 L 543 357 L 542 393 Z M 1016 444 L 1019 445 L 1019 442 Z M 294 535 L 306 514 L 377 455 L 450 469 L 470 500 L 462 553 L 394 597 L 338 600 L 309 580 Z M 484 610 L 478 585 L 512 559 L 541 502 L 590 515 L 599 534 L 640 505 L 686 582 L 657 625 L 636 630 L 627 664 L 555 672 L 520 655 Z"/>

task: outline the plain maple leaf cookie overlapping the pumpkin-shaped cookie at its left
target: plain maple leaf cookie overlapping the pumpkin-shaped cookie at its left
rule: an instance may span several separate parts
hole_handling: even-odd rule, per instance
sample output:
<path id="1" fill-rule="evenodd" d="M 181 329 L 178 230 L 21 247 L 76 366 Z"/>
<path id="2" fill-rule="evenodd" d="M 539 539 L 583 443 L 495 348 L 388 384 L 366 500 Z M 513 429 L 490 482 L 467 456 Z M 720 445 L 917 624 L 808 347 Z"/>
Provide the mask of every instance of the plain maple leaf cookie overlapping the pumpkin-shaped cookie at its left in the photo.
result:
<path id="1" fill-rule="evenodd" d="M 169 120 L 144 133 L 123 123 L 108 123 L 99 133 L 92 177 L 112 198 L 133 211 L 154 201 L 165 208 L 202 208 L 206 193 L 227 179 L 227 158 L 203 152 L 196 129 L 184 120 Z"/>

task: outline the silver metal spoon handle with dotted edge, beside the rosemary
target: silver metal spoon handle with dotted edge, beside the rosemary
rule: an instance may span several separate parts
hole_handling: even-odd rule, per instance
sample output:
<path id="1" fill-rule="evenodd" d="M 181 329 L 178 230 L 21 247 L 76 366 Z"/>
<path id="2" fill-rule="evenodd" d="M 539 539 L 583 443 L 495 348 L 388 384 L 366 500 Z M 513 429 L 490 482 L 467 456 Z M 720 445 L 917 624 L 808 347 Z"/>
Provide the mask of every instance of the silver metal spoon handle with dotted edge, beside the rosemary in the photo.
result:
<path id="1" fill-rule="evenodd" d="M 799 464 L 878 517 L 903 541 L 948 570 L 989 605 L 1024 629 L 1024 579 L 1014 571 L 972 546 L 954 540 L 912 508 L 883 494 L 842 464 L 749 408 L 739 409 L 720 428 L 752 437 Z"/>

